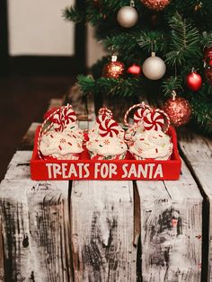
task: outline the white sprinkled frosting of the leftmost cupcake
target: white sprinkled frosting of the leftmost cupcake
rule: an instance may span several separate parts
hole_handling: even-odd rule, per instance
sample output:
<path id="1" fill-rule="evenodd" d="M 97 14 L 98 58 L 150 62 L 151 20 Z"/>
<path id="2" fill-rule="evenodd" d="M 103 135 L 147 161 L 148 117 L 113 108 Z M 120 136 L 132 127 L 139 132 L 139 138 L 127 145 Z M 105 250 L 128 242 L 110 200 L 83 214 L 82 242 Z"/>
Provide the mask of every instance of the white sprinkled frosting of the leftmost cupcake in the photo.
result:
<path id="1" fill-rule="evenodd" d="M 40 141 L 40 152 L 44 156 L 67 159 L 72 158 L 71 154 L 80 154 L 83 151 L 82 139 L 73 132 L 50 130 Z"/>

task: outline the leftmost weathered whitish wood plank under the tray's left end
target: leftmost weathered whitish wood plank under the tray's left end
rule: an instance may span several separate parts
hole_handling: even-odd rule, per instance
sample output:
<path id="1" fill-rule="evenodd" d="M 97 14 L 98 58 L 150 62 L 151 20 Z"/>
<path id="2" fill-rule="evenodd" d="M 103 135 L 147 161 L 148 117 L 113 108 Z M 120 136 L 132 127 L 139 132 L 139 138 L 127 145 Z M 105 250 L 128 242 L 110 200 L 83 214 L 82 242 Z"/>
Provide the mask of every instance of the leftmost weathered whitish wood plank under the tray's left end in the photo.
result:
<path id="1" fill-rule="evenodd" d="M 5 281 L 72 281 L 68 181 L 31 181 L 17 152 L 0 185 Z"/>

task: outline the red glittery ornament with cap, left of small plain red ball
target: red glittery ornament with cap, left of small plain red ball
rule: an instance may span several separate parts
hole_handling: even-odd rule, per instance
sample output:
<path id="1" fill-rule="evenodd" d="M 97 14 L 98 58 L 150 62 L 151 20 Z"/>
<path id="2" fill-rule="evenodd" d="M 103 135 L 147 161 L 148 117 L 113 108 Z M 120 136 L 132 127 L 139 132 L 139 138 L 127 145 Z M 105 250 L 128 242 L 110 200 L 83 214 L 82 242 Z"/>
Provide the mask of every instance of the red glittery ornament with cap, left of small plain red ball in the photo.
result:
<path id="1" fill-rule="evenodd" d="M 119 78 L 120 75 L 123 75 L 124 70 L 124 64 L 117 60 L 117 56 L 113 55 L 110 63 L 104 66 L 102 76 L 108 78 Z"/>

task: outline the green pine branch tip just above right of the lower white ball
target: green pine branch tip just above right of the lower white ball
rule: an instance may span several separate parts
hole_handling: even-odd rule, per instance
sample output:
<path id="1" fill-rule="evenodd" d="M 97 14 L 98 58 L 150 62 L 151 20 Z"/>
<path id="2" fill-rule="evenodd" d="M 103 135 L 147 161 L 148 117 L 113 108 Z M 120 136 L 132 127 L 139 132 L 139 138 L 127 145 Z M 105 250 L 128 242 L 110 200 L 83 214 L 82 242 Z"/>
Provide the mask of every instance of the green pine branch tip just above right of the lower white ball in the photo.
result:
<path id="1" fill-rule="evenodd" d="M 199 31 L 176 13 L 169 22 L 171 28 L 170 52 L 166 54 L 166 63 L 170 66 L 182 66 L 187 59 L 200 57 Z"/>

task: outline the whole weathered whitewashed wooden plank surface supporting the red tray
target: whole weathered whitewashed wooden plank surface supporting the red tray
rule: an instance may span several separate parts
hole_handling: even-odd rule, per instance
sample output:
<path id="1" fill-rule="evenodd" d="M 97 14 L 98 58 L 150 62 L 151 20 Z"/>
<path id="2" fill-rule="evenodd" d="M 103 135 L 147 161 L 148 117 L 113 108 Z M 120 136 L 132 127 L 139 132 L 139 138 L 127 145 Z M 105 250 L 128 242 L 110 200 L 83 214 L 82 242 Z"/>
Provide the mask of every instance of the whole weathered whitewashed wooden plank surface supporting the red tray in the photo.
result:
<path id="1" fill-rule="evenodd" d="M 0 281 L 212 281 L 211 140 L 181 137 L 180 181 L 31 181 L 37 125 L 0 186 Z"/>

